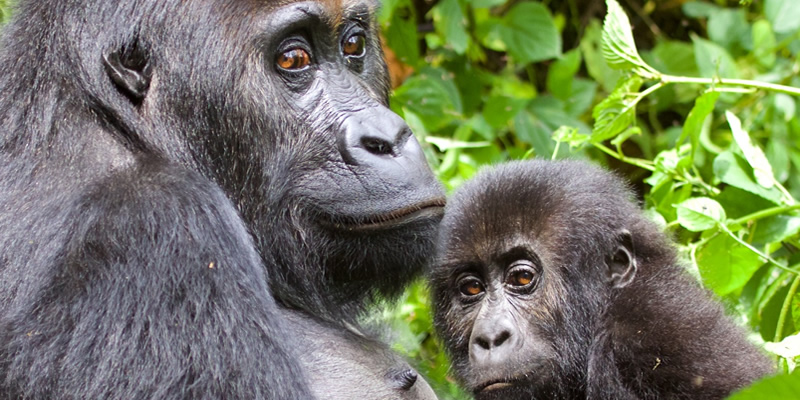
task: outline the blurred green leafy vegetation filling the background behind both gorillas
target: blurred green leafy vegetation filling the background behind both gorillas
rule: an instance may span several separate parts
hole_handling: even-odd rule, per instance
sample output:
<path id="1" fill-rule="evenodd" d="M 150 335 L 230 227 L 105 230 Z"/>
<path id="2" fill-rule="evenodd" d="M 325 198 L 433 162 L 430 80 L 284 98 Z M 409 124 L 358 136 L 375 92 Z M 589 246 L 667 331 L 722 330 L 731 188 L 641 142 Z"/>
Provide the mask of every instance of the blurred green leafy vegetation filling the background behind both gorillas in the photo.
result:
<path id="1" fill-rule="evenodd" d="M 800 398 L 800 5 L 620 1 L 604 34 L 603 0 L 384 0 L 392 108 L 448 189 L 534 157 L 626 177 L 774 355 L 780 374 L 734 397 Z M 428 300 L 420 282 L 380 319 L 442 399 L 468 399 Z"/>

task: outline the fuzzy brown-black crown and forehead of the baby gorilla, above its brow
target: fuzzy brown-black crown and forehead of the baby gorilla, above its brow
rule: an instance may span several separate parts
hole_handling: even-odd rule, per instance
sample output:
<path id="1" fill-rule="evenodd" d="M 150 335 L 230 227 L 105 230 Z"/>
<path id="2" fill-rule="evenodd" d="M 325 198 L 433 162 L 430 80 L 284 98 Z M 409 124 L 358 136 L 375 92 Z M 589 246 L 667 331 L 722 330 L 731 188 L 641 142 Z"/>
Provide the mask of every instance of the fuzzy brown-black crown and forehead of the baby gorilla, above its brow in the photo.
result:
<path id="1" fill-rule="evenodd" d="M 532 160 L 484 168 L 448 201 L 440 240 L 447 247 L 440 254 L 486 253 L 520 241 L 564 250 L 603 243 L 637 215 L 631 199 L 620 180 L 582 163 Z"/>

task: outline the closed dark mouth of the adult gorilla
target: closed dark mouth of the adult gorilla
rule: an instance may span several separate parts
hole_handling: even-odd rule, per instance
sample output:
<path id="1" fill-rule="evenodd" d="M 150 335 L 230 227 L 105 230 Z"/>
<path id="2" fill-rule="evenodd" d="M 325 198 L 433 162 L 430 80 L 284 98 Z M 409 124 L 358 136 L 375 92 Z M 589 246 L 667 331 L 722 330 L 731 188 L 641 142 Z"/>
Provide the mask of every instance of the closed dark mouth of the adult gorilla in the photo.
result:
<path id="1" fill-rule="evenodd" d="M 383 214 L 336 221 L 333 222 L 332 225 L 336 229 L 347 231 L 383 230 L 406 225 L 418 220 L 441 218 L 444 214 L 445 204 L 445 198 L 439 197 Z"/>

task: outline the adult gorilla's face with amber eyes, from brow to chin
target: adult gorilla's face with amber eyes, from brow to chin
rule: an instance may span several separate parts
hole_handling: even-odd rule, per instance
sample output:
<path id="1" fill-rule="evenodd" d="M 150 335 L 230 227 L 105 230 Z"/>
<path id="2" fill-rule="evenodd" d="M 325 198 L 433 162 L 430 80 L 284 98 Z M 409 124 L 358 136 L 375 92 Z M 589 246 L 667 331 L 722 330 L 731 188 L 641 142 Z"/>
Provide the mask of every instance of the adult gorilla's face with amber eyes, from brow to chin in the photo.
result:
<path id="1" fill-rule="evenodd" d="M 208 31 L 158 39 L 140 111 L 181 132 L 184 162 L 229 193 L 262 256 L 278 264 L 276 296 L 350 313 L 344 306 L 398 293 L 432 249 L 444 194 L 387 107 L 376 4 L 220 1 L 184 11 L 172 23 L 210 20 Z"/>

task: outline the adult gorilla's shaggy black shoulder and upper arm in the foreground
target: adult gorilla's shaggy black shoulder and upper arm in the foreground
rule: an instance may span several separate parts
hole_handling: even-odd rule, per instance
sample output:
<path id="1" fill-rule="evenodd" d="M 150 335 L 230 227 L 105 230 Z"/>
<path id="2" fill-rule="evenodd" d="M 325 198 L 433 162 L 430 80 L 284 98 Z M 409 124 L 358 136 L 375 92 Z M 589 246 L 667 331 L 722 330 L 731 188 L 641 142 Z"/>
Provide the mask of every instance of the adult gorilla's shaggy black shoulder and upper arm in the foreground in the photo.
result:
<path id="1" fill-rule="evenodd" d="M 156 162 L 81 203 L 40 269 L 58 272 L 20 285 L 4 313 L 0 381 L 16 386 L 0 397 L 311 398 L 291 384 L 302 373 L 265 269 L 216 185 Z"/>

